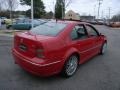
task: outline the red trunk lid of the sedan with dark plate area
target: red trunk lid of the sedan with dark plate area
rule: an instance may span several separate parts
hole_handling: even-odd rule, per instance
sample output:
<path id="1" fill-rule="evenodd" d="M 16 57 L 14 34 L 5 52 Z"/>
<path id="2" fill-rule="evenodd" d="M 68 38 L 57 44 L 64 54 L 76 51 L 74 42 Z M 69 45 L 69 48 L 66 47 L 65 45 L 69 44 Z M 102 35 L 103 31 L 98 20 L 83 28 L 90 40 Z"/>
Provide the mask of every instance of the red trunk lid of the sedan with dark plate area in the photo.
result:
<path id="1" fill-rule="evenodd" d="M 29 33 L 19 33 L 14 37 L 14 48 L 22 55 L 35 57 L 38 43 L 35 35 Z"/>

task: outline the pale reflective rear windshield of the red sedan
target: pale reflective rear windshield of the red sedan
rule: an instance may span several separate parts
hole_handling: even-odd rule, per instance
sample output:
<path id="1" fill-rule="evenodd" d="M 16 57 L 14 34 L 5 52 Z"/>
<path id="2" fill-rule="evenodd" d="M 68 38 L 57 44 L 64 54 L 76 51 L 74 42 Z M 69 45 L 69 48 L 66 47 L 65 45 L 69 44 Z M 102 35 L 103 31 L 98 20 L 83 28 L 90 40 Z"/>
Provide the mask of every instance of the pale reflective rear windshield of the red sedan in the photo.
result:
<path id="1" fill-rule="evenodd" d="M 33 28 L 30 32 L 35 35 L 56 36 L 66 26 L 65 23 L 47 22 Z"/>

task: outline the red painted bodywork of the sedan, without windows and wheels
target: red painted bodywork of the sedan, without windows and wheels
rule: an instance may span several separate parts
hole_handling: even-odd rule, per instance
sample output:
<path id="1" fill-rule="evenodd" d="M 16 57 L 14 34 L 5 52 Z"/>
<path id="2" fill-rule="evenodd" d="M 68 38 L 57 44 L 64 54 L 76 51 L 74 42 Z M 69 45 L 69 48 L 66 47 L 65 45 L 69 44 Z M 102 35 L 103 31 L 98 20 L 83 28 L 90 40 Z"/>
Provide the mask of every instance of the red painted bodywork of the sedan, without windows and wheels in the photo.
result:
<path id="1" fill-rule="evenodd" d="M 34 35 L 30 32 L 17 33 L 14 36 L 12 53 L 16 64 L 39 76 L 58 74 L 63 69 L 65 61 L 72 54 L 79 55 L 79 64 L 82 64 L 100 53 L 103 43 L 107 41 L 106 37 L 101 34 L 98 36 L 89 36 L 88 34 L 85 39 L 71 39 L 70 34 L 76 25 L 84 25 L 86 29 L 86 25 L 90 25 L 88 23 L 76 21 L 58 21 L 55 23 L 67 23 L 64 30 L 56 36 Z M 20 47 L 21 44 L 25 46 Z M 20 48 L 25 49 L 25 51 Z M 39 49 L 39 54 L 43 55 L 40 58 L 37 57 Z"/>

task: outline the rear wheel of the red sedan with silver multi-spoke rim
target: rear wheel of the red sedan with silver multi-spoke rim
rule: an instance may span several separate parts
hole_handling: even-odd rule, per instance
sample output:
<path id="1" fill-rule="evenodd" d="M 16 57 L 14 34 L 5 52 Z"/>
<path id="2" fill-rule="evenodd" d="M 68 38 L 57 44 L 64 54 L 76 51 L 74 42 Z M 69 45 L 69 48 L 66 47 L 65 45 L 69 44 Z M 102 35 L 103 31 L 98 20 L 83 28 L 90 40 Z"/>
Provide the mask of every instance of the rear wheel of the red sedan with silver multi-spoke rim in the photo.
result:
<path id="1" fill-rule="evenodd" d="M 78 67 L 78 57 L 76 55 L 72 55 L 66 61 L 64 68 L 62 70 L 62 76 L 71 77 L 75 74 Z"/>

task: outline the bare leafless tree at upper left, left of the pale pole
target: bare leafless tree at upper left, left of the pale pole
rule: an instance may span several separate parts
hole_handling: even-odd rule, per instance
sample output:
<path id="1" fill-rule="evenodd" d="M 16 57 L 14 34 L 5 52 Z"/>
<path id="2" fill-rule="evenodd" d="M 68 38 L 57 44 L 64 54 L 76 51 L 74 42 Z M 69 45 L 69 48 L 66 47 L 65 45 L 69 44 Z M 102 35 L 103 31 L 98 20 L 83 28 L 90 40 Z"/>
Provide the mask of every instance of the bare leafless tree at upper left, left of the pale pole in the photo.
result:
<path id="1" fill-rule="evenodd" d="M 13 13 L 17 6 L 18 6 L 18 0 L 6 0 L 6 6 L 8 7 L 8 10 L 10 11 L 10 19 L 13 18 Z"/>

